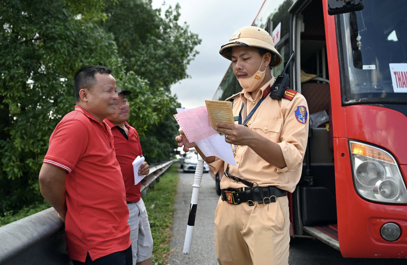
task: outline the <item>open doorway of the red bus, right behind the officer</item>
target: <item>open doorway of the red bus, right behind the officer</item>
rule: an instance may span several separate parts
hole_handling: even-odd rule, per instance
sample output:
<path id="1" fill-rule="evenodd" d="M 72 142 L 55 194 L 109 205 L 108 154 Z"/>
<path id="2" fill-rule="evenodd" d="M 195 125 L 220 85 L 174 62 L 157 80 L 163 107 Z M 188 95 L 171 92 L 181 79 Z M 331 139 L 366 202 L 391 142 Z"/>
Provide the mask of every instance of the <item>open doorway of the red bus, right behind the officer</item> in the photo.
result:
<path id="1" fill-rule="evenodd" d="M 304 232 L 339 250 L 330 81 L 321 0 L 290 12 L 291 84 L 306 98 L 310 128 L 301 180 L 293 193 L 294 237 Z"/>

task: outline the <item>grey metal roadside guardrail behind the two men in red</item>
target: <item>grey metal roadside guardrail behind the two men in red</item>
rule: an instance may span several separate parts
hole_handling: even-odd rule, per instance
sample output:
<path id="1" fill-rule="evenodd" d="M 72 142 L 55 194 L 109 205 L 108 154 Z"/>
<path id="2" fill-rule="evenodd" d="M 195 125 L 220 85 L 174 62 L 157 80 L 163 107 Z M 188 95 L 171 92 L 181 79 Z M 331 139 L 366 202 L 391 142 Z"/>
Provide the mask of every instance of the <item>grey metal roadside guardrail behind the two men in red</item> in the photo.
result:
<path id="1" fill-rule="evenodd" d="M 141 190 L 154 183 L 177 161 L 150 167 Z M 63 223 L 53 207 L 0 227 L 0 265 L 69 264 L 62 228 Z"/>

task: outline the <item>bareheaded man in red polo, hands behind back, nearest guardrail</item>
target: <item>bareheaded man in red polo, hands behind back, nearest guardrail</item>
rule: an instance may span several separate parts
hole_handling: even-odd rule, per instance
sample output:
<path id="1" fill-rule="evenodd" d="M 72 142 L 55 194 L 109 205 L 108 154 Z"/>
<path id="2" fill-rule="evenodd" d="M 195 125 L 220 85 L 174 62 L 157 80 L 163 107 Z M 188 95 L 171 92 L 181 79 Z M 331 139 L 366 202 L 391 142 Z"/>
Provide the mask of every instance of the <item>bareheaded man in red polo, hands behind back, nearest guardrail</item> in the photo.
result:
<path id="1" fill-rule="evenodd" d="M 73 264 L 132 264 L 125 186 L 103 121 L 117 111 L 112 70 L 82 67 L 74 76 L 77 105 L 50 137 L 39 172 L 44 198 L 65 222 Z"/>

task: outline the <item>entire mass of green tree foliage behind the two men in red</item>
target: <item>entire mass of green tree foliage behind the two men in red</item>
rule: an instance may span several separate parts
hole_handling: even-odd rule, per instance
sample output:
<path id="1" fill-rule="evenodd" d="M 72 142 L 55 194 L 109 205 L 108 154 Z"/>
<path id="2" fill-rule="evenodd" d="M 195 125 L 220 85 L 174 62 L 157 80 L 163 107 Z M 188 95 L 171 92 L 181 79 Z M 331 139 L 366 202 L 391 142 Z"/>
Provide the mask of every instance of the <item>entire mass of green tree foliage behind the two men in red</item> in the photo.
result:
<path id="1" fill-rule="evenodd" d="M 118 85 L 131 89 L 129 123 L 167 148 L 164 156 L 146 148 L 147 159 L 168 159 L 176 147 L 168 135 L 177 130 L 170 124 L 162 137 L 157 126 L 175 112 L 168 88 L 186 77 L 199 39 L 177 24 L 179 7 L 164 18 L 160 12 L 143 0 L 0 1 L 0 214 L 40 200 L 38 172 L 48 140 L 73 109 L 73 74 L 83 65 L 105 65 Z M 118 28 L 124 18 L 131 18 L 128 31 Z M 160 59 L 164 54 L 170 57 Z"/>

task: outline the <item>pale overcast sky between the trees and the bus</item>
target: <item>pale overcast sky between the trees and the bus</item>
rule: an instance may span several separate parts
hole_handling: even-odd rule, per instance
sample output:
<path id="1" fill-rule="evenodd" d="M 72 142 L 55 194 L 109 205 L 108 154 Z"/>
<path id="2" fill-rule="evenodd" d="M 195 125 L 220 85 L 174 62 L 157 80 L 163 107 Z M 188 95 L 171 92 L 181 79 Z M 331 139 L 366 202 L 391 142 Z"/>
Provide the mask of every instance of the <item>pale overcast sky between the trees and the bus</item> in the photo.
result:
<path id="1" fill-rule="evenodd" d="M 153 0 L 153 8 L 162 7 L 163 0 Z M 221 45 L 243 26 L 250 26 L 263 0 L 166 0 L 162 11 L 169 5 L 181 6 L 179 24 L 186 22 L 202 42 L 196 49 L 200 52 L 188 65 L 190 76 L 171 87 L 184 108 L 205 105 L 212 99 L 230 61 L 219 54 Z"/>

